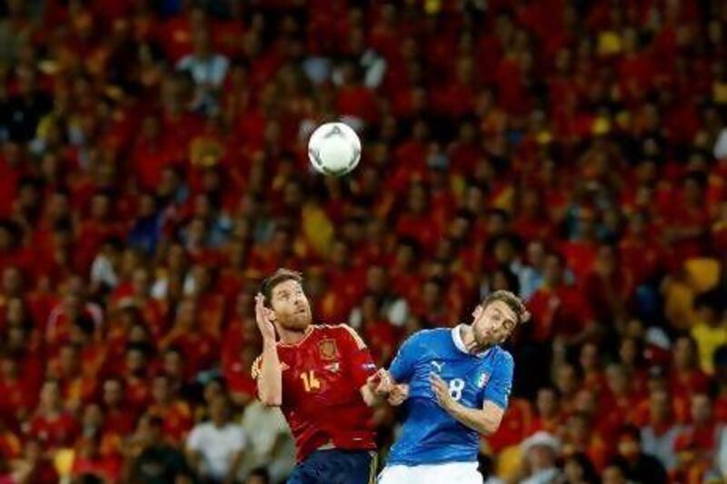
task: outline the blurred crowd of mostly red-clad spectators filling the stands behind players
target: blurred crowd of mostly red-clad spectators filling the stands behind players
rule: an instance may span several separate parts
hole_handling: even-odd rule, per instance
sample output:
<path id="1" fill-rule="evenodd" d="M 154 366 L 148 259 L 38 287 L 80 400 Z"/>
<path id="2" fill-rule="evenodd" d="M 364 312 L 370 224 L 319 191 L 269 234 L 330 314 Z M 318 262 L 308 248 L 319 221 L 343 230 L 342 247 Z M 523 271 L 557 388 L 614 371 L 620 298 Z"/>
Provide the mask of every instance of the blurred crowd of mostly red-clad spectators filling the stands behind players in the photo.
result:
<path id="1" fill-rule="evenodd" d="M 722 482 L 726 108 L 721 0 L 0 1 L 0 483 L 284 479 L 278 267 L 379 365 L 527 301 L 492 482 Z"/>

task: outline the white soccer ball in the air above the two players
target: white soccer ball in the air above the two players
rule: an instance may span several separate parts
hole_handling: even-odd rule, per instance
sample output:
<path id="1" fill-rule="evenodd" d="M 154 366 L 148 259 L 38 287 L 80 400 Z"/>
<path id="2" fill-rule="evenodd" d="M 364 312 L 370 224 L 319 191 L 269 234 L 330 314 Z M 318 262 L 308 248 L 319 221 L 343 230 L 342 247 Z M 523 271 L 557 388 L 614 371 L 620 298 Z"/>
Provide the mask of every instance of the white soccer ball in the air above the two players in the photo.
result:
<path id="1" fill-rule="evenodd" d="M 361 140 L 347 124 L 321 124 L 308 141 L 308 159 L 318 173 L 343 176 L 361 160 Z"/>

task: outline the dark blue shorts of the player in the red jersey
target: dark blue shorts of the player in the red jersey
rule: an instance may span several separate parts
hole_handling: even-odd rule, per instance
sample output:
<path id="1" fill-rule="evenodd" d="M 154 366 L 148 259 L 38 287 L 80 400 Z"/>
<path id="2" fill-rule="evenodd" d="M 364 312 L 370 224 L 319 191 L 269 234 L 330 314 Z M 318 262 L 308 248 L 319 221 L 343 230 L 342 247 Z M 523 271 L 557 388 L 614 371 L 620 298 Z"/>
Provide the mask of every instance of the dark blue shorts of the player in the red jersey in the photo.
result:
<path id="1" fill-rule="evenodd" d="M 376 457 L 373 450 L 316 450 L 295 466 L 288 484 L 373 484 Z"/>

